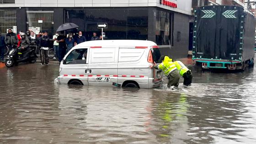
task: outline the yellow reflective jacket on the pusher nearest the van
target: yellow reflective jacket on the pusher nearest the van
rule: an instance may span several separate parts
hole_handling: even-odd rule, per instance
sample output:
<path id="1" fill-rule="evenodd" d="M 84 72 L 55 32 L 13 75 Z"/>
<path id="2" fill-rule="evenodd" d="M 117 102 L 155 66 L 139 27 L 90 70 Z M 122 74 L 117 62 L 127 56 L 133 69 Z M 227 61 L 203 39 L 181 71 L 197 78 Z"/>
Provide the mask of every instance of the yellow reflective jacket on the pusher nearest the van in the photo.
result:
<path id="1" fill-rule="evenodd" d="M 157 68 L 162 69 L 167 77 L 173 70 L 177 69 L 175 64 L 172 62 L 172 59 L 167 56 L 165 56 L 164 61 L 159 64 Z"/>

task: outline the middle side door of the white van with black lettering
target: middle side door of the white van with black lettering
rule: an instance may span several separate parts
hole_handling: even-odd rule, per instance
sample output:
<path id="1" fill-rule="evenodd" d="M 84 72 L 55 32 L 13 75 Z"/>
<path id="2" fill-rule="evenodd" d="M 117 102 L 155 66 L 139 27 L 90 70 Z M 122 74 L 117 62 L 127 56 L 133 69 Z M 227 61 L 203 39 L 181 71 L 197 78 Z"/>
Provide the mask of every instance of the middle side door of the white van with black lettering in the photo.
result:
<path id="1" fill-rule="evenodd" d="M 91 47 L 88 65 L 89 85 L 117 83 L 118 47 Z"/>

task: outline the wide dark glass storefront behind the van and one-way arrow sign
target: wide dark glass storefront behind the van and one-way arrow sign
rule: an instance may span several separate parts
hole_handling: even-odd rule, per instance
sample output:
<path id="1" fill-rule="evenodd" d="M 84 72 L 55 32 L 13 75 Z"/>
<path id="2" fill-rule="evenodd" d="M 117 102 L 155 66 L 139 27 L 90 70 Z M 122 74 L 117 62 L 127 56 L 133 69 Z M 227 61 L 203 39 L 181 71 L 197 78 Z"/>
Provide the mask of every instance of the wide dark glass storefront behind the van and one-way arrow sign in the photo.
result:
<path id="1" fill-rule="evenodd" d="M 106 22 L 105 39 L 138 39 L 148 38 L 148 9 L 90 9 L 66 10 L 65 22 L 73 22 L 91 40 L 93 32 L 101 35 L 97 23 Z"/>

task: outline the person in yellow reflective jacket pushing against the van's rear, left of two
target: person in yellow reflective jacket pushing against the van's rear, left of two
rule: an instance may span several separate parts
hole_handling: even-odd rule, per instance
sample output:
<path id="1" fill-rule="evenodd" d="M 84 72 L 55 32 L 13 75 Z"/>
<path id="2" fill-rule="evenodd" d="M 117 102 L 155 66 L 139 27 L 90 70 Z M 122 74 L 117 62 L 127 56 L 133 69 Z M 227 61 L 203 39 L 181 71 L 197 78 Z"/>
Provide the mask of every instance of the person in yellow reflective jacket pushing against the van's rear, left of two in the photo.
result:
<path id="1" fill-rule="evenodd" d="M 169 79 L 168 87 L 179 85 L 180 75 L 179 71 L 176 68 L 175 64 L 172 62 L 168 56 L 161 56 L 160 61 L 162 63 L 155 64 L 154 66 L 150 66 L 150 68 L 161 69 L 165 73 L 165 76 Z"/>

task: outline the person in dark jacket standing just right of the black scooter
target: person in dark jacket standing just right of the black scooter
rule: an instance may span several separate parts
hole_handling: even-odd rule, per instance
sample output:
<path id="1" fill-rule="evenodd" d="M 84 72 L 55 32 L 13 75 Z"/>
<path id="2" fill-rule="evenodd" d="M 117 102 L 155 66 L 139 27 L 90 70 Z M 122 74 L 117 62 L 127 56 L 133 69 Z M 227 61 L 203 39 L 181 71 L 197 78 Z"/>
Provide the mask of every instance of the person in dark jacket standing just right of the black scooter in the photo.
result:
<path id="1" fill-rule="evenodd" d="M 48 50 L 50 48 L 50 37 L 48 36 L 48 32 L 44 32 L 43 36 L 40 39 L 41 43 L 41 53 L 42 53 L 42 65 L 48 64 Z"/>

